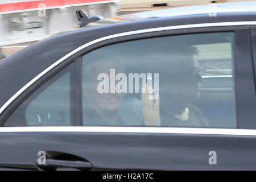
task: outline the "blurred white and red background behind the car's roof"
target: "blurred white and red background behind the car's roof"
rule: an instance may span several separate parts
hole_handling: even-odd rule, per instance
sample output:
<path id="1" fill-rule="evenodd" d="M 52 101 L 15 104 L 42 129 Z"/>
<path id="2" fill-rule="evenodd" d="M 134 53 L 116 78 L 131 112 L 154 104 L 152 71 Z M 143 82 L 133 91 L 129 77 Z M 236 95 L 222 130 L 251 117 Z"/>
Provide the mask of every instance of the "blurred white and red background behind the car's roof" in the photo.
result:
<path id="1" fill-rule="evenodd" d="M 119 17 L 134 17 L 129 14 L 142 11 L 243 1 L 250 0 L 0 0 L 0 59 L 49 36 L 79 28 L 77 10 L 119 21 Z"/>

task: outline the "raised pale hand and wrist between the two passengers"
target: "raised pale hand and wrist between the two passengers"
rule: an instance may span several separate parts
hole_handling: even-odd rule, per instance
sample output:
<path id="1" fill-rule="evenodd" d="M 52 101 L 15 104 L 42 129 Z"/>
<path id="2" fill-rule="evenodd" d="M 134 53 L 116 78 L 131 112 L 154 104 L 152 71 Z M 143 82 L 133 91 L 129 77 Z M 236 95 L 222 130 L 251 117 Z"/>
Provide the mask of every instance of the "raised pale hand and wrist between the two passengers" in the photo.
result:
<path id="1" fill-rule="evenodd" d="M 146 87 L 147 89 L 152 90 L 150 86 L 146 86 Z M 141 95 L 144 123 L 146 126 L 160 126 L 161 125 L 160 110 L 159 110 L 160 97 L 159 96 L 156 97 L 157 98 L 156 100 L 148 100 L 149 95 L 150 94 L 148 94 L 148 92 L 142 93 Z"/>

